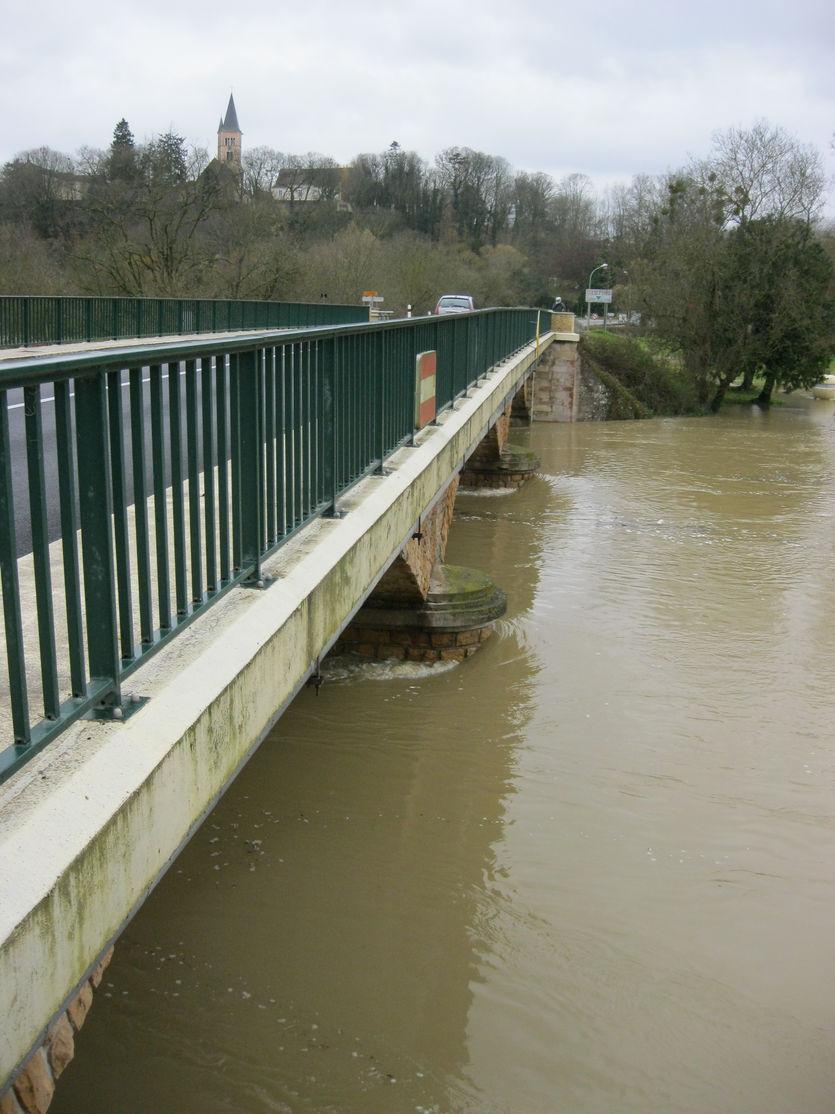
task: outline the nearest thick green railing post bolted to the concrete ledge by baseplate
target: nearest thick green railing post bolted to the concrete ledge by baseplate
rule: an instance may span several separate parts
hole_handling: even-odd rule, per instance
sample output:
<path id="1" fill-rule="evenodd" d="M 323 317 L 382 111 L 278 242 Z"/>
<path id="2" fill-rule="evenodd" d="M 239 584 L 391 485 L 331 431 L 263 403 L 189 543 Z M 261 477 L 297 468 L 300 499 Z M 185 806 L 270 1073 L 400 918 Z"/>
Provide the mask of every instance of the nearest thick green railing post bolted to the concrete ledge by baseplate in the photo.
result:
<path id="1" fill-rule="evenodd" d="M 109 681 L 109 701 L 118 702 L 119 639 L 110 524 L 112 498 L 107 451 L 105 374 L 95 372 L 76 379 L 75 388 L 78 498 L 90 677 Z"/>

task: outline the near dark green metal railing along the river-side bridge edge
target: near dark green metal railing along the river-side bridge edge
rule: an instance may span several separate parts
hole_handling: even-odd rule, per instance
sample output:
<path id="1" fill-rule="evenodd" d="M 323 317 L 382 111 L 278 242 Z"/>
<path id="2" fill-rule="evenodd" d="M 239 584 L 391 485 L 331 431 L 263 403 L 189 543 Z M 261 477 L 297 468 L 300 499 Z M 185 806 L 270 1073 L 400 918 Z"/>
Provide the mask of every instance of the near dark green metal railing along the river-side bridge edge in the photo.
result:
<path id="1" fill-rule="evenodd" d="M 80 716 L 129 711 L 120 686 L 150 655 L 236 585 L 258 586 L 265 557 L 413 438 L 418 353 L 438 353 L 441 411 L 533 341 L 539 316 L 484 310 L 0 364 L 0 686 L 13 731 L 0 778 Z M 42 717 L 18 526 L 31 536 Z"/>

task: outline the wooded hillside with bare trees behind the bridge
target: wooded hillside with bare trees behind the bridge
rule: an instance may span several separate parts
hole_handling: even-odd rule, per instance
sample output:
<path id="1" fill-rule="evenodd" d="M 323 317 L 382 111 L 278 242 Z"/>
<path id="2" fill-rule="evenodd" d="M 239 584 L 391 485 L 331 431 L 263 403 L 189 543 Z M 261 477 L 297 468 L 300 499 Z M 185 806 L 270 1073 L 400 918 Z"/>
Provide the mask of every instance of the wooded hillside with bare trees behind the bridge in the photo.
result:
<path id="1" fill-rule="evenodd" d="M 716 409 L 740 374 L 767 402 L 832 358 L 827 187 L 819 153 L 764 121 L 599 194 L 581 174 L 466 147 L 429 163 L 396 143 L 348 167 L 256 147 L 238 173 L 171 131 L 137 143 L 122 119 L 106 150 L 38 147 L 2 167 L 0 293 L 355 303 L 371 287 L 395 313 L 455 291 L 477 305 L 559 294 L 579 313 L 606 263 L 612 309 L 640 315 L 647 351 Z"/>

